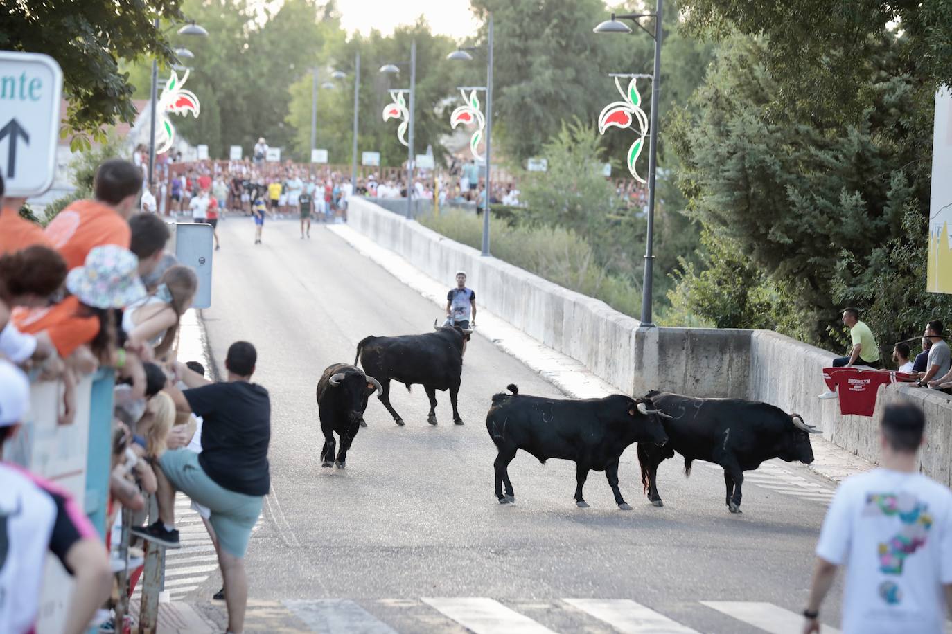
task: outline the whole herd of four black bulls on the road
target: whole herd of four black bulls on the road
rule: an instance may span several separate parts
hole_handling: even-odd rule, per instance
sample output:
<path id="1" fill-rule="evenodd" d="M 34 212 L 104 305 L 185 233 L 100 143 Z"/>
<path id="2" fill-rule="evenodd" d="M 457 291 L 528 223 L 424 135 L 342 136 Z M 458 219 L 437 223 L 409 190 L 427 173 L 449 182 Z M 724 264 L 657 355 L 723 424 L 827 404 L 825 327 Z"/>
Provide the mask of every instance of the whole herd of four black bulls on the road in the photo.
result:
<path id="1" fill-rule="evenodd" d="M 453 422 L 462 425 L 457 394 L 463 372 L 463 352 L 470 333 L 457 327 L 407 336 L 367 336 L 357 344 L 353 365 L 334 364 L 317 384 L 317 404 L 325 443 L 324 467 L 344 469 L 347 450 L 360 427 L 370 394 L 380 401 L 397 425 L 404 420 L 390 404 L 390 381 L 423 385 L 429 398 L 427 422 L 436 425 L 436 391 L 449 392 Z M 360 363 L 360 368 L 358 367 Z M 361 370 L 363 368 L 363 370 Z M 820 433 L 799 414 L 788 414 L 766 403 L 737 398 L 694 398 L 649 392 L 641 398 L 612 394 L 604 398 L 557 399 L 519 394 L 495 394 L 486 414 L 486 431 L 496 445 L 495 493 L 500 504 L 515 502 L 507 467 L 523 450 L 545 463 L 549 458 L 576 465 L 575 503 L 588 504 L 582 494 L 588 471 L 605 471 L 619 509 L 629 510 L 618 487 L 618 463 L 632 443 L 638 443 L 638 462 L 648 499 L 663 506 L 658 492 L 658 466 L 678 452 L 684 473 L 694 460 L 724 469 L 724 501 L 741 512 L 744 471 L 757 469 L 771 458 L 813 462 L 811 433 Z M 334 433 L 340 437 L 340 448 Z M 505 487 L 505 490 L 504 490 Z"/>

